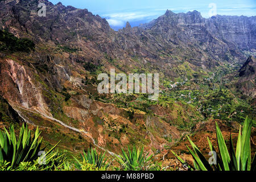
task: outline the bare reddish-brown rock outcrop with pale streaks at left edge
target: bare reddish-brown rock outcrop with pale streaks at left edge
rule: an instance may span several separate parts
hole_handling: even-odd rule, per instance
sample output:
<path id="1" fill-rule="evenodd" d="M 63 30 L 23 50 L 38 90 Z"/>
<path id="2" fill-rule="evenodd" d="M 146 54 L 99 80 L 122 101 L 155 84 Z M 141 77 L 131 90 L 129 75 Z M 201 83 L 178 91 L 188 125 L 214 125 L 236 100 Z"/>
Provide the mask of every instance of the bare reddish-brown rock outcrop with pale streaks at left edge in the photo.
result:
<path id="1" fill-rule="evenodd" d="M 51 115 L 34 72 L 12 59 L 0 59 L 0 94 L 13 105 Z"/>

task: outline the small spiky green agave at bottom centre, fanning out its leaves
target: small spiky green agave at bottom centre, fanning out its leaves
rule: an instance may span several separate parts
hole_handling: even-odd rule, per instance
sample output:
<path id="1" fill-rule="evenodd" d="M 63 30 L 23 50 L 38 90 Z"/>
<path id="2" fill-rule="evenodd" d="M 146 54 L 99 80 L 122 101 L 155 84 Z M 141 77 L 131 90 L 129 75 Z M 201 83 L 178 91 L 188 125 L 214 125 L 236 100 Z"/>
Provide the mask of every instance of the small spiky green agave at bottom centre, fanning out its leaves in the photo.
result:
<path id="1" fill-rule="evenodd" d="M 141 150 L 137 150 L 135 146 L 133 146 L 133 150 L 130 150 L 128 147 L 128 152 L 126 153 L 122 148 L 122 155 L 115 156 L 119 164 L 121 164 L 122 168 L 128 171 L 144 171 L 152 169 L 151 158 L 152 155 L 148 156 L 143 154 L 144 147 Z"/>

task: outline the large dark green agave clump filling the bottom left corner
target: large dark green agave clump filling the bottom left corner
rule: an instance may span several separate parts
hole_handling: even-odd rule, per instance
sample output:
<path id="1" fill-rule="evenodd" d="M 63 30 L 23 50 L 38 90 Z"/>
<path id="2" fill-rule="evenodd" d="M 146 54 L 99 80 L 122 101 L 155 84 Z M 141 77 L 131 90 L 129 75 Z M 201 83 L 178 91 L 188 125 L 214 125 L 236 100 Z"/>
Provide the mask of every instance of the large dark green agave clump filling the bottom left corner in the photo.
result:
<path id="1" fill-rule="evenodd" d="M 22 125 L 20 128 L 18 139 L 16 139 L 13 125 L 10 126 L 10 133 L 6 129 L 0 131 L 0 161 L 7 162 L 11 168 L 18 167 L 22 162 L 39 162 L 39 151 L 46 149 L 46 147 L 40 148 L 43 138 L 39 139 L 39 136 L 40 132 L 37 128 L 32 137 L 27 125 L 26 127 Z M 60 166 L 63 155 L 52 152 L 57 144 L 46 152 L 44 164 L 40 168 L 49 169 Z"/>

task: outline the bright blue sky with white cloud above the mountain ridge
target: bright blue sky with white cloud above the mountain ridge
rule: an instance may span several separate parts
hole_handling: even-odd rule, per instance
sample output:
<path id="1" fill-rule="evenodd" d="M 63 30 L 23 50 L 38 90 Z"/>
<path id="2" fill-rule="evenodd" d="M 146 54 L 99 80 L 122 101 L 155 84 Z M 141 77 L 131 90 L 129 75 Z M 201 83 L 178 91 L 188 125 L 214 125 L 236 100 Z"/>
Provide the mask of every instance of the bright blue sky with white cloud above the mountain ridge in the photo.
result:
<path id="1" fill-rule="evenodd" d="M 63 5 L 88 9 L 93 14 L 98 14 L 108 20 L 114 30 L 125 26 L 129 21 L 131 26 L 150 22 L 152 19 L 163 15 L 166 10 L 174 13 L 187 13 L 197 10 L 204 18 L 209 18 L 212 13 L 220 15 L 256 15 L 256 0 L 49 0 L 53 4 L 58 2 Z M 214 6 L 216 11 L 210 11 Z M 212 12 L 209 14 L 209 11 Z"/>

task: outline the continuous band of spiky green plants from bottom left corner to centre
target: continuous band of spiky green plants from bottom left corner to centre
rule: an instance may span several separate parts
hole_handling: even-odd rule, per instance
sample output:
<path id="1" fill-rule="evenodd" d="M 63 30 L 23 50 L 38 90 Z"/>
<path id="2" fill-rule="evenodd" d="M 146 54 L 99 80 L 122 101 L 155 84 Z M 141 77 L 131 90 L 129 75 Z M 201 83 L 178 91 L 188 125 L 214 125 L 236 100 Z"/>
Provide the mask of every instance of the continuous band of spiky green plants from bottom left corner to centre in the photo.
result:
<path id="1" fill-rule="evenodd" d="M 93 148 L 81 154 L 81 160 L 75 159 L 75 163 L 69 163 L 64 152 L 56 150 L 53 146 L 48 152 L 43 152 L 46 147 L 41 148 L 43 138 L 39 138 L 40 132 L 37 128 L 34 136 L 28 126 L 22 125 L 18 139 L 16 139 L 14 126 L 11 125 L 10 133 L 0 132 L 0 171 L 105 171 L 105 170 L 152 170 L 157 169 L 152 164 L 152 155 L 144 155 L 143 148 L 140 150 L 134 146 L 133 150 L 128 148 L 126 153 L 115 156 L 116 162 L 121 168 L 110 166 L 107 162 L 106 152 L 98 154 Z M 39 155 L 40 154 L 40 155 Z"/>

